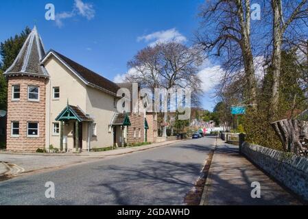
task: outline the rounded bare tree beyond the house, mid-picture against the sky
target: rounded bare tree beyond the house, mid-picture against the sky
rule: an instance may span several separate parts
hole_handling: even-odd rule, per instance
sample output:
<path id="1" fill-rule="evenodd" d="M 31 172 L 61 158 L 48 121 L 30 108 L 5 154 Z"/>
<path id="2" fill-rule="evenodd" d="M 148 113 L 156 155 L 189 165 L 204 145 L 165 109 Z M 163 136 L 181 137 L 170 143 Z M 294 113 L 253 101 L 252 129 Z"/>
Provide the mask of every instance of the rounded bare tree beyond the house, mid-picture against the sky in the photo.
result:
<path id="1" fill-rule="evenodd" d="M 152 90 L 190 88 L 191 103 L 199 105 L 202 81 L 198 76 L 198 66 L 202 61 L 202 53 L 196 47 L 187 47 L 178 42 L 156 44 L 139 51 L 128 62 L 128 67 L 134 69 L 134 73 L 127 75 L 126 81 L 139 82 L 143 88 Z M 167 122 L 167 113 L 164 122 Z M 166 127 L 163 130 L 165 135 Z"/>

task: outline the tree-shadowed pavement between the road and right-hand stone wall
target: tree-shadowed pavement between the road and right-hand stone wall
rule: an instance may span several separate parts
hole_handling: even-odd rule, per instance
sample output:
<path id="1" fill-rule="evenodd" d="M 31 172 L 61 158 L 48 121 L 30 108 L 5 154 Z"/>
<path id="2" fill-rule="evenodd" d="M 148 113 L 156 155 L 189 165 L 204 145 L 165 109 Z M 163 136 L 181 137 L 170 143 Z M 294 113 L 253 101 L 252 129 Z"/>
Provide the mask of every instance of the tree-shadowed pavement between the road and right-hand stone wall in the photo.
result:
<path id="1" fill-rule="evenodd" d="M 251 183 L 261 185 L 261 198 L 252 198 Z M 292 194 L 265 175 L 239 147 L 218 140 L 200 205 L 301 205 Z"/>

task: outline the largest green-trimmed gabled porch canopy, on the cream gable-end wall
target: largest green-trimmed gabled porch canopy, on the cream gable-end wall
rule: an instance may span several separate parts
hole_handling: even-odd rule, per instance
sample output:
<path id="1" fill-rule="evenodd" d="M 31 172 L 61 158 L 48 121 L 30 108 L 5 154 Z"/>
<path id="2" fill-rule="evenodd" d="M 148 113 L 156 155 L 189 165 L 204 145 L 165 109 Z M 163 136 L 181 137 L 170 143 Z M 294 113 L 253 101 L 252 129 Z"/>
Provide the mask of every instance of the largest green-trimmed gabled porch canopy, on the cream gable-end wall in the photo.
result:
<path id="1" fill-rule="evenodd" d="M 78 120 L 78 122 L 93 122 L 88 115 L 84 114 L 80 107 L 67 105 L 62 112 L 57 116 L 56 121 Z"/>

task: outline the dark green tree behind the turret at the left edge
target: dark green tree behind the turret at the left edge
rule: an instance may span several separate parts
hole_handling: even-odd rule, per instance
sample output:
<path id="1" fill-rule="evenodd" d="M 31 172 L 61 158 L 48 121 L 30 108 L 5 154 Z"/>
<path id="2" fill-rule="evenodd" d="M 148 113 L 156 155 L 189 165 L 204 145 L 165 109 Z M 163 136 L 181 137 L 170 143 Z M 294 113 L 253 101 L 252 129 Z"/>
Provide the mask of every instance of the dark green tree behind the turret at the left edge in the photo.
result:
<path id="1" fill-rule="evenodd" d="M 21 47 L 23 47 L 23 43 L 27 39 L 27 36 L 30 34 L 31 29 L 26 27 L 25 30 L 21 32 L 21 34 L 16 35 L 0 44 L 0 109 L 5 110 L 7 108 L 7 83 L 5 77 L 3 77 L 3 72 L 8 69 L 16 56 L 18 55 Z"/>

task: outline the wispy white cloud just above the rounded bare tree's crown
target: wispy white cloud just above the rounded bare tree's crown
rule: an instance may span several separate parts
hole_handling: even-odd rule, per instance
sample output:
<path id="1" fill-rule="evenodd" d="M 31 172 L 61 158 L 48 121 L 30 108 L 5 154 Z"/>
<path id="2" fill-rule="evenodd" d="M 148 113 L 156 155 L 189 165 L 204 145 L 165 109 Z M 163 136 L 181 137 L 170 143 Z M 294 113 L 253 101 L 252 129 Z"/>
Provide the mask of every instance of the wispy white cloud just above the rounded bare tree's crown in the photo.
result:
<path id="1" fill-rule="evenodd" d="M 139 36 L 137 38 L 138 42 L 145 41 L 150 42 L 150 46 L 154 46 L 160 42 L 186 42 L 187 38 L 180 34 L 180 32 L 176 28 L 167 29 L 165 31 L 156 31 L 152 34 Z"/>

